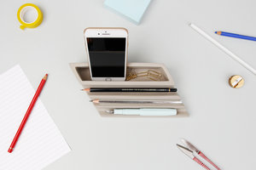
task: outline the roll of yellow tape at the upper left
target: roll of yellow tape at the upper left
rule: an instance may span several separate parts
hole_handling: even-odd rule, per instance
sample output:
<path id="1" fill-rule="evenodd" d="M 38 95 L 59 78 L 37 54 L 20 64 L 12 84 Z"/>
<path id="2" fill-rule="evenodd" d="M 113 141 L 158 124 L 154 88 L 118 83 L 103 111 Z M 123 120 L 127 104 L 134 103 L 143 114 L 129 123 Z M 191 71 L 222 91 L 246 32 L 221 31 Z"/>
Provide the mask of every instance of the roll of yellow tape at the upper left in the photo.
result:
<path id="1" fill-rule="evenodd" d="M 32 22 L 26 22 L 26 20 L 24 20 L 24 15 L 28 10 L 35 10 L 37 14 L 36 20 L 33 20 Z M 36 28 L 41 24 L 43 20 L 43 13 L 37 5 L 32 3 L 26 3 L 20 6 L 20 8 L 18 9 L 17 18 L 21 24 L 20 29 L 24 30 L 24 28 Z"/>

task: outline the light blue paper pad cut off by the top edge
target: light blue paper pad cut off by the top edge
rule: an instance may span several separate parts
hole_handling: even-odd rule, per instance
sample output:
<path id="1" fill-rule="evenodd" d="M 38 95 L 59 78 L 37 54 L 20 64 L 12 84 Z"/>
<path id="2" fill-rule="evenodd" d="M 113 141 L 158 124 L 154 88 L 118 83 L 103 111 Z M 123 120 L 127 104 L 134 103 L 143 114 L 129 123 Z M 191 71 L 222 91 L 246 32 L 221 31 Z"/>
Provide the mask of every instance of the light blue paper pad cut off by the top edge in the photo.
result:
<path id="1" fill-rule="evenodd" d="M 105 0 L 106 7 L 139 24 L 151 0 Z"/>

